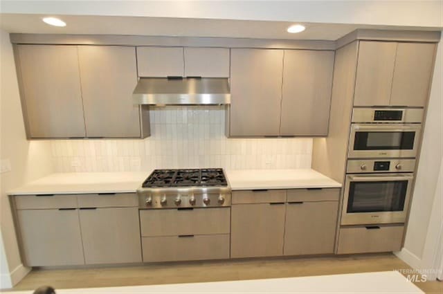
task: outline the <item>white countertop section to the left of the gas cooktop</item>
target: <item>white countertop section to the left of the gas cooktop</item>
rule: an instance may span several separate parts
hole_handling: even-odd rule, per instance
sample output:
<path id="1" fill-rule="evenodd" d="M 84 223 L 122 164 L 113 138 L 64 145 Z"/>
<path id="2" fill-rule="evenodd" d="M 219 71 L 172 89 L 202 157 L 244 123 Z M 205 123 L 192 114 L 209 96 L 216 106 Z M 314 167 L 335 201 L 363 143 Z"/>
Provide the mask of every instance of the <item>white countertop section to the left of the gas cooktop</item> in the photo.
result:
<path id="1" fill-rule="evenodd" d="M 151 171 L 61 172 L 26 183 L 8 191 L 8 194 L 133 193 L 150 173 Z"/>

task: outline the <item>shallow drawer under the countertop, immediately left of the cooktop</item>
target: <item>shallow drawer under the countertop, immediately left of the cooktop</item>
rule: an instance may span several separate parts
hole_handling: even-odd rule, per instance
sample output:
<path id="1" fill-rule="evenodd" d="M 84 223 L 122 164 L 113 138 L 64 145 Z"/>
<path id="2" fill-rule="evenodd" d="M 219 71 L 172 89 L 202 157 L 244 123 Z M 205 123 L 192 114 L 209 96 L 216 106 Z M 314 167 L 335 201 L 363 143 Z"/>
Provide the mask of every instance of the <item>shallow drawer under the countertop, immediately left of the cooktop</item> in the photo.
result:
<path id="1" fill-rule="evenodd" d="M 118 208 L 136 207 L 138 198 L 135 193 L 103 193 L 78 195 L 79 208 Z"/>

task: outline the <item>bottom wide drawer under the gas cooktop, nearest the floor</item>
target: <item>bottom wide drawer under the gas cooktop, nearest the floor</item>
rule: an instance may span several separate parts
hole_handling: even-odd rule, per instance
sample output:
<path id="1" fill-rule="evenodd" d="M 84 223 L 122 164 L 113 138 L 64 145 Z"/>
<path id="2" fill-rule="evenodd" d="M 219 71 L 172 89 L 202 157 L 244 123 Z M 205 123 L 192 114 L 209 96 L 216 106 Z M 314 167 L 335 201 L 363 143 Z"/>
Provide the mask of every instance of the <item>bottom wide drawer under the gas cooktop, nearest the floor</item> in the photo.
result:
<path id="1" fill-rule="evenodd" d="M 143 237 L 143 261 L 228 259 L 229 235 Z"/>

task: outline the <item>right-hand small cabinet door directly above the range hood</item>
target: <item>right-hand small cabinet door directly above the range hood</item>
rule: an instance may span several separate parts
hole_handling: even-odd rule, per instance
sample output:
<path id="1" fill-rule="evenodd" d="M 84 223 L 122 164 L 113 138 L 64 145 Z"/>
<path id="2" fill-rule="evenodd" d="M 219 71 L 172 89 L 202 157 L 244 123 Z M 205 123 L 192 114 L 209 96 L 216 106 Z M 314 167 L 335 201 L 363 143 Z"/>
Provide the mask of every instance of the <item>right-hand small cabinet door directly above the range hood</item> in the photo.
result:
<path id="1" fill-rule="evenodd" d="M 186 77 L 229 77 L 228 48 L 185 48 Z"/>

